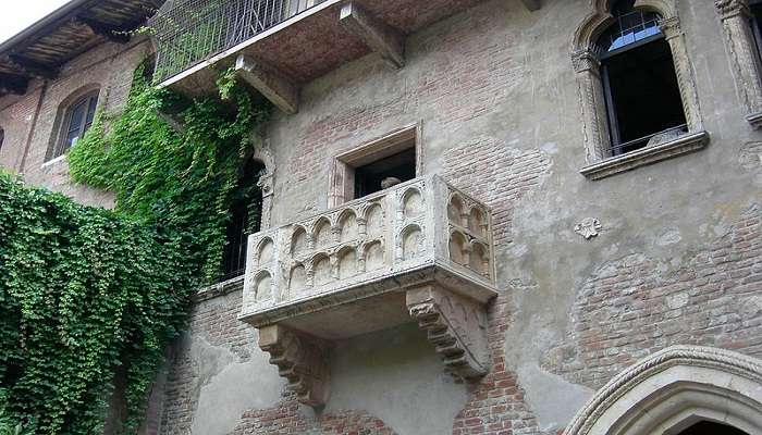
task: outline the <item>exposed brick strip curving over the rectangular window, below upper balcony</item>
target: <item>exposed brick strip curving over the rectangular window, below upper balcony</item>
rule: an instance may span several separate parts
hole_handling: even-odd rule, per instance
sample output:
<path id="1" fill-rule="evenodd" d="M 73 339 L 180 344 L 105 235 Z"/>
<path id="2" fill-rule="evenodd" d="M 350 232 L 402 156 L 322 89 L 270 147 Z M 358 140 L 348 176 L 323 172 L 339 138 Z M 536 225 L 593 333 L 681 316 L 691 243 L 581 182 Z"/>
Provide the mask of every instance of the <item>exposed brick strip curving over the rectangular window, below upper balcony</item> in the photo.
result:
<path id="1" fill-rule="evenodd" d="M 333 156 L 362 145 L 361 138 L 371 139 L 368 132 L 389 133 L 379 127 L 390 120 L 400 120 L 397 126 L 402 126 L 413 121 L 411 113 L 427 112 L 425 135 L 438 132 L 446 136 L 507 101 L 526 71 L 512 36 L 495 38 L 495 34 L 505 32 L 504 23 L 489 9 L 477 9 L 445 23 L 420 36 L 415 50 L 426 55 L 410 53 L 419 63 L 406 66 L 409 73 L 401 82 L 404 86 L 384 89 L 372 101 L 346 99 L 305 124 L 288 160 L 293 175 L 285 186 L 286 195 L 299 206 L 291 212 L 290 220 L 318 210 L 318 199 L 328 187 L 325 163 Z M 361 90 L 367 87 L 367 79 L 366 74 L 347 77 L 342 92 L 353 95 Z M 430 108 L 437 109 L 428 113 Z"/>

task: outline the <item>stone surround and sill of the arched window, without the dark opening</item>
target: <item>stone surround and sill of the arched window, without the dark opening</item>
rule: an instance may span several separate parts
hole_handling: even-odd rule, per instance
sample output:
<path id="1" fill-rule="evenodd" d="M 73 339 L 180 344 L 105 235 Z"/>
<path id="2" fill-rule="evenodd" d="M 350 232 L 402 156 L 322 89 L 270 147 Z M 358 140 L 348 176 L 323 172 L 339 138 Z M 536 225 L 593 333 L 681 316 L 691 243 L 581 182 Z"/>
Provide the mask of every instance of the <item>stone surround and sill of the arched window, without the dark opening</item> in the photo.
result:
<path id="1" fill-rule="evenodd" d="M 612 156 L 605 94 L 600 73 L 601 61 L 595 50 L 599 36 L 614 22 L 610 13 L 612 3 L 613 0 L 592 1 L 593 10 L 577 28 L 572 51 L 572 63 L 576 72 L 581 105 L 587 160 L 580 173 L 593 181 L 693 152 L 704 148 L 709 142 L 709 134 L 704 130 L 701 117 L 696 74 L 674 1 L 637 0 L 636 9 L 655 12 L 662 17 L 660 28 L 672 51 L 688 133 L 662 144 Z"/>

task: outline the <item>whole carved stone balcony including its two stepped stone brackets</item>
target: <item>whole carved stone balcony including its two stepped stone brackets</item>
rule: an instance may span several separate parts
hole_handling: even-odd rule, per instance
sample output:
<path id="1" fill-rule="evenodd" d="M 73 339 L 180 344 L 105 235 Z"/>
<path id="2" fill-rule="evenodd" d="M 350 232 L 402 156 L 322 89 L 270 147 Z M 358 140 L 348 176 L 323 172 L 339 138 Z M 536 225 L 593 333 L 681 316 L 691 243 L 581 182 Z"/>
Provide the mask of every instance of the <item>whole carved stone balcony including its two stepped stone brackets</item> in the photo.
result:
<path id="1" fill-rule="evenodd" d="M 248 240 L 239 319 L 302 401 L 327 399 L 331 341 L 417 321 L 462 378 L 489 370 L 490 210 L 417 178 Z"/>

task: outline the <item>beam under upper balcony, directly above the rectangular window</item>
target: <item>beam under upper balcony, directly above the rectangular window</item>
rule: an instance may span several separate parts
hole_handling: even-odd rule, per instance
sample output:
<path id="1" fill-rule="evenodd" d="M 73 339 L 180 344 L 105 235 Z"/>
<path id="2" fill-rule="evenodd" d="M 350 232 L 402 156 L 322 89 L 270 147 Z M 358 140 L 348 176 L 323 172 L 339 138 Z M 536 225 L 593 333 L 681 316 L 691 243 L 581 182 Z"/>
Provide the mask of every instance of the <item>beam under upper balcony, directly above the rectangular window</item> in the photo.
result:
<path id="1" fill-rule="evenodd" d="M 395 67 L 405 66 L 405 37 L 351 1 L 342 7 L 341 23 L 368 48 L 381 54 Z"/>

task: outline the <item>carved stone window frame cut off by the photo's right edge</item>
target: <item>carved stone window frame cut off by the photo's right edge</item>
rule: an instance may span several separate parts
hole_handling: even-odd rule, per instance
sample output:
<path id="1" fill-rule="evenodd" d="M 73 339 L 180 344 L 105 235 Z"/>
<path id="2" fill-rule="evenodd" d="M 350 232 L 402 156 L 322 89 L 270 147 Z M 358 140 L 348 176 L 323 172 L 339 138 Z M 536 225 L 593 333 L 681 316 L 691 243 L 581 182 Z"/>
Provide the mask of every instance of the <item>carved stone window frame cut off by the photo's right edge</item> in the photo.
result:
<path id="1" fill-rule="evenodd" d="M 746 120 L 759 129 L 762 127 L 762 64 L 751 28 L 750 2 L 714 0 L 714 7 L 723 25 L 736 91 L 743 104 Z"/>

